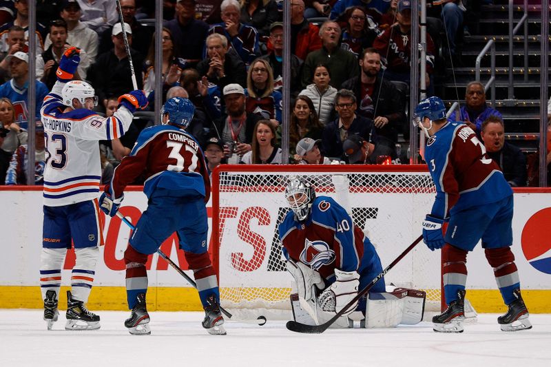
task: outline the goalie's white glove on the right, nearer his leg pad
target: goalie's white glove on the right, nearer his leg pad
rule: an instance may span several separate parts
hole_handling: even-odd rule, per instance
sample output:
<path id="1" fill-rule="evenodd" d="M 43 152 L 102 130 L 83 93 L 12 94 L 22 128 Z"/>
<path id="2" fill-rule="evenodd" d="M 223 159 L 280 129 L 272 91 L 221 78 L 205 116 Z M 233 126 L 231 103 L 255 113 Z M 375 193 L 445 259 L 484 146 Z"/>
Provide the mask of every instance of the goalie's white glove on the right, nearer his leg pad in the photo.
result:
<path id="1" fill-rule="evenodd" d="M 340 271 L 335 269 L 337 280 L 323 291 L 318 303 L 323 311 L 339 313 L 357 295 L 360 286 L 360 274 L 357 271 Z M 357 301 L 347 308 L 344 315 L 355 311 Z"/>

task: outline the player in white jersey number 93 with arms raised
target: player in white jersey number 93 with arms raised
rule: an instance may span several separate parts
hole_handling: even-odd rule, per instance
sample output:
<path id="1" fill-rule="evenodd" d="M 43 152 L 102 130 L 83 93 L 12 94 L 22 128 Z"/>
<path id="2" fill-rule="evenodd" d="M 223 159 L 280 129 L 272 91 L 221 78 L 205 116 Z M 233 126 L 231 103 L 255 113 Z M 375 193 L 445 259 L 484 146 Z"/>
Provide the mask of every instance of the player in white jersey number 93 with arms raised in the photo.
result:
<path id="1" fill-rule="evenodd" d="M 44 220 L 40 286 L 48 330 L 58 318 L 61 269 L 67 249 L 74 244 L 76 261 L 71 291 L 67 291 L 67 330 L 100 327 L 99 316 L 85 304 L 94 282 L 99 246 L 103 244 L 98 209 L 101 163 L 98 140 L 120 138 L 132 123 L 136 109 L 147 105 L 141 90 L 118 98 L 118 109 L 104 118 L 94 88 L 72 81 L 80 62 L 80 50 L 69 48 L 61 57 L 52 92 L 44 98 L 41 118 L 45 131 Z"/>

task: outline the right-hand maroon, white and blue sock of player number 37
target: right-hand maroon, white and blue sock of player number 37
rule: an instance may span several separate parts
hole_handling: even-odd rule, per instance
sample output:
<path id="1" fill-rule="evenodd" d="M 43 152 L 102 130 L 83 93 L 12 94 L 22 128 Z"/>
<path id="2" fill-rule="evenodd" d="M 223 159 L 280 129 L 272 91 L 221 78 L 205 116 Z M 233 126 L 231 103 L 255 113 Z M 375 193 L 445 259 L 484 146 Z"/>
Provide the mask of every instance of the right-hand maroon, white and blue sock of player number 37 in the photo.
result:
<path id="1" fill-rule="evenodd" d="M 199 298 L 203 307 L 209 306 L 207 297 L 214 294 L 216 302 L 220 303 L 220 291 L 218 290 L 218 280 L 211 264 L 209 253 L 191 253 L 185 251 L 185 260 L 189 264 L 189 269 L 194 271 Z"/>

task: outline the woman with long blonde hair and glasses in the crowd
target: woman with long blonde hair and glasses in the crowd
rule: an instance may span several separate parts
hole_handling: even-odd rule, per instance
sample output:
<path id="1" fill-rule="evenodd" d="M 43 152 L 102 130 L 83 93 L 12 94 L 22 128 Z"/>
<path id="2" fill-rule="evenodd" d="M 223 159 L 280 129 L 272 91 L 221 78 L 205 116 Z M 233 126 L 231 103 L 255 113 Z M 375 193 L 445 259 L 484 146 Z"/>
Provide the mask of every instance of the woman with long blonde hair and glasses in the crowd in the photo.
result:
<path id="1" fill-rule="evenodd" d="M 273 90 L 273 72 L 265 59 L 251 63 L 245 90 L 247 114 L 258 114 L 278 126 L 281 123 L 281 92 Z"/>

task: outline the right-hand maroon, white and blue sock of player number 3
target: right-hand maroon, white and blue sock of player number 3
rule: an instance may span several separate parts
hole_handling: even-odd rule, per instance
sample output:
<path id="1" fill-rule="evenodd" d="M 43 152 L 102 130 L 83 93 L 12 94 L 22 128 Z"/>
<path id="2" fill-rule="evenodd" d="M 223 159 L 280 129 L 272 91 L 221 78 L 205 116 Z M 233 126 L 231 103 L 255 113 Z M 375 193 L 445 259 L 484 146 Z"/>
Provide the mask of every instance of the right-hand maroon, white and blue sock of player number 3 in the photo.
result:
<path id="1" fill-rule="evenodd" d="M 512 291 L 520 289 L 521 286 L 517 265 L 514 264 L 514 254 L 510 247 L 485 249 L 484 253 L 486 253 L 488 263 L 494 269 L 495 280 L 503 302 L 510 304 L 517 299 Z"/>

